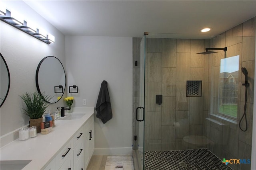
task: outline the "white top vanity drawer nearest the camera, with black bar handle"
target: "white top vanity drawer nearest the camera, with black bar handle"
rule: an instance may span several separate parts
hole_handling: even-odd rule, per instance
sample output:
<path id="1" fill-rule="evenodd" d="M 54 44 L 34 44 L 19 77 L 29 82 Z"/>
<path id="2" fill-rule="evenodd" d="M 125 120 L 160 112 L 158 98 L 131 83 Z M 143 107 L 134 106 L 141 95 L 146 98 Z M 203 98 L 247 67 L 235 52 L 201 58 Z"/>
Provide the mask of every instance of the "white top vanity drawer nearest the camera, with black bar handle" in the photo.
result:
<path id="1" fill-rule="evenodd" d="M 70 141 L 68 144 L 66 144 L 63 149 L 60 151 L 60 153 L 57 154 L 56 156 L 56 166 L 60 167 L 62 166 L 63 162 L 72 155 L 72 150 L 73 150 L 73 145 L 72 142 Z"/>

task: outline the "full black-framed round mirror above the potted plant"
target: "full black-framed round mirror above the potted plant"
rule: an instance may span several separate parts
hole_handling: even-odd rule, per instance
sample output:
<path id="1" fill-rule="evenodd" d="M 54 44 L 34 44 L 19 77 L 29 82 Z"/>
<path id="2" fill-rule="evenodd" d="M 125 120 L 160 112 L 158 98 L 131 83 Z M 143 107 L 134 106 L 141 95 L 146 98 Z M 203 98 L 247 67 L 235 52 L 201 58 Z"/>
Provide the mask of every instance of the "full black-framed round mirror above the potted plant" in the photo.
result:
<path id="1" fill-rule="evenodd" d="M 36 88 L 39 93 L 49 96 L 48 103 L 56 103 L 62 98 L 66 87 L 66 74 L 59 59 L 44 57 L 36 69 Z"/>

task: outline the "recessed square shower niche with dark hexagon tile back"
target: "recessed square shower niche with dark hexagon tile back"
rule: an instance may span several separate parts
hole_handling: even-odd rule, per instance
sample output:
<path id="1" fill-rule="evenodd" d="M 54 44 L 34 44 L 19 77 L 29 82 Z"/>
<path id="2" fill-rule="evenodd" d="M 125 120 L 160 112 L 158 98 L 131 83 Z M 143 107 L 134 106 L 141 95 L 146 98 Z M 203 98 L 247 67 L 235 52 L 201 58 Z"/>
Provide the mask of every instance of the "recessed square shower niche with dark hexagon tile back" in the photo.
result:
<path id="1" fill-rule="evenodd" d="M 202 81 L 187 81 L 187 97 L 202 96 Z"/>

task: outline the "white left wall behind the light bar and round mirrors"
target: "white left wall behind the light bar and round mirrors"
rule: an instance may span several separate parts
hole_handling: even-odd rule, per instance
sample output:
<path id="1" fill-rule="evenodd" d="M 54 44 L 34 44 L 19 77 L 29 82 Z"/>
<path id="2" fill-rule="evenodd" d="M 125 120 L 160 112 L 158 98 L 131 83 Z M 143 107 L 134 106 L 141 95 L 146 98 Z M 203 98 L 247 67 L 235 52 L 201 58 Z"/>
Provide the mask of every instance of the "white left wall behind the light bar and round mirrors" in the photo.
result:
<path id="1" fill-rule="evenodd" d="M 33 21 L 54 35 L 55 43 L 48 45 L 0 21 L 0 52 L 10 70 L 10 91 L 0 108 L 1 146 L 3 135 L 28 124 L 29 118 L 22 113 L 24 106 L 18 95 L 37 91 L 36 68 L 41 59 L 52 55 L 65 66 L 65 36 L 23 1 L 5 1 L 4 4 L 11 12 L 18 11 L 26 20 Z M 56 110 L 59 106 L 64 106 L 64 102 L 52 104 L 48 109 Z"/>

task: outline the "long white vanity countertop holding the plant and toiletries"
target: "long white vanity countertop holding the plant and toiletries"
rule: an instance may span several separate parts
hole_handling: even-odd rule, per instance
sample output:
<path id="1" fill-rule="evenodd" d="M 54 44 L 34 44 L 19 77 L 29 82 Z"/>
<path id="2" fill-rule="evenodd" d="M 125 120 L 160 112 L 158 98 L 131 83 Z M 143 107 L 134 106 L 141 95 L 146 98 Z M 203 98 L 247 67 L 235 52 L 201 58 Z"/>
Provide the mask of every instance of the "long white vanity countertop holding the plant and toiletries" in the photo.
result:
<path id="1" fill-rule="evenodd" d="M 94 115 L 94 107 L 87 107 L 86 113 L 77 120 L 57 120 L 55 127 L 47 135 L 38 133 L 36 137 L 26 141 L 19 139 L 1 148 L 1 160 L 32 160 L 23 169 L 40 170 L 50 163 L 58 151 L 75 135 L 76 131 Z M 75 109 L 74 109 L 75 111 Z"/>

